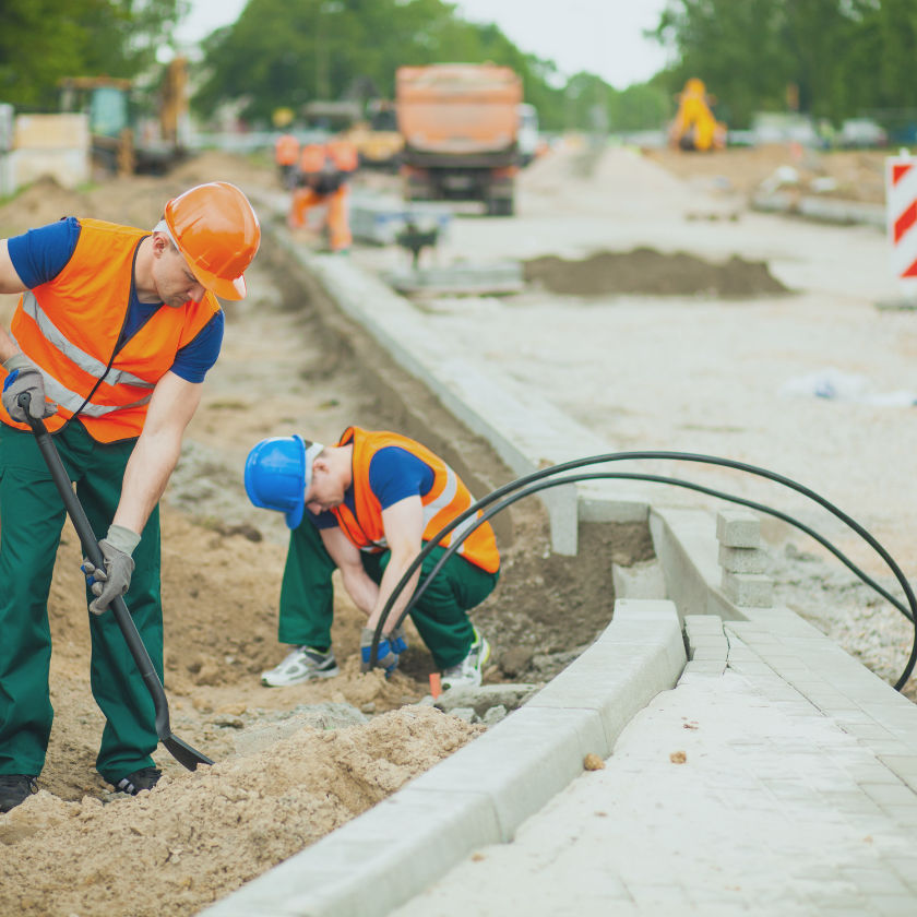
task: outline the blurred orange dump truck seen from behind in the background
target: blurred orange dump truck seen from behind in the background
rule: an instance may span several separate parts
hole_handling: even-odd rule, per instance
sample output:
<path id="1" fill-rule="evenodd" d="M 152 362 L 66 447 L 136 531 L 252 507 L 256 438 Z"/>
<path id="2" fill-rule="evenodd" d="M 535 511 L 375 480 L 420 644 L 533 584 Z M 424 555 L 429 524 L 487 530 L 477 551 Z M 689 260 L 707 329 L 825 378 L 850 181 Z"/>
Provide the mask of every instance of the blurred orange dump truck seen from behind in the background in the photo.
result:
<path id="1" fill-rule="evenodd" d="M 489 214 L 512 214 L 521 102 L 522 81 L 508 67 L 398 68 L 405 198 L 483 201 Z"/>

